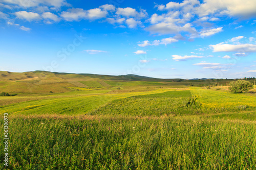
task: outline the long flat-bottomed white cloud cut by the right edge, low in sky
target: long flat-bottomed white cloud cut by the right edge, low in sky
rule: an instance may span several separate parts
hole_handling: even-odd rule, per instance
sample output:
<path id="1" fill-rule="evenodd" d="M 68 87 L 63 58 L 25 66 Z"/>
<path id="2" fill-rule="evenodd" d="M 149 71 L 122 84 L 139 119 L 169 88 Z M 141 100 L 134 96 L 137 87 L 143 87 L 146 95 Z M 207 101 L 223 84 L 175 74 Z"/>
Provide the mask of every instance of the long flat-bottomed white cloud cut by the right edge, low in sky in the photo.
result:
<path id="1" fill-rule="evenodd" d="M 256 52 L 256 45 L 254 44 L 224 44 L 219 43 L 216 45 L 209 45 L 213 48 L 213 52 L 244 52 L 244 53 L 253 53 Z"/>

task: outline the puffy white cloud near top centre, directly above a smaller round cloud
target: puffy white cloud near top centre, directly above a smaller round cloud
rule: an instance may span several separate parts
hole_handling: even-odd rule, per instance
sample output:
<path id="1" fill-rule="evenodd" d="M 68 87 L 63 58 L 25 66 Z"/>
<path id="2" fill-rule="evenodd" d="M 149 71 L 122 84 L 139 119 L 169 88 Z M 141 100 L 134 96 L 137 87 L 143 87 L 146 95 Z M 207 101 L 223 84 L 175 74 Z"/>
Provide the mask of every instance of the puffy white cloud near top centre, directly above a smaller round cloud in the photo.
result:
<path id="1" fill-rule="evenodd" d="M 146 10 L 141 9 L 140 12 L 137 12 L 136 9 L 130 8 L 130 7 L 117 8 L 116 14 L 122 15 L 125 17 L 146 17 L 147 16 Z"/>

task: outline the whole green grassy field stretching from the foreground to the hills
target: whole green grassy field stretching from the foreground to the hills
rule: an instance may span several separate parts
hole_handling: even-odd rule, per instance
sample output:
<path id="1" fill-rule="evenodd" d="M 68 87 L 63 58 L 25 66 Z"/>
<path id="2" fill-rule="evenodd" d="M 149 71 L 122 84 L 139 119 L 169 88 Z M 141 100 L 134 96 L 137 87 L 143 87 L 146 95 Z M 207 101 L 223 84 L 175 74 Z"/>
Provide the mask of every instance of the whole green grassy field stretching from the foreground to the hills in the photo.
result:
<path id="1" fill-rule="evenodd" d="M 86 86 L 0 96 L 1 169 L 256 169 L 254 90 L 68 76 Z"/>

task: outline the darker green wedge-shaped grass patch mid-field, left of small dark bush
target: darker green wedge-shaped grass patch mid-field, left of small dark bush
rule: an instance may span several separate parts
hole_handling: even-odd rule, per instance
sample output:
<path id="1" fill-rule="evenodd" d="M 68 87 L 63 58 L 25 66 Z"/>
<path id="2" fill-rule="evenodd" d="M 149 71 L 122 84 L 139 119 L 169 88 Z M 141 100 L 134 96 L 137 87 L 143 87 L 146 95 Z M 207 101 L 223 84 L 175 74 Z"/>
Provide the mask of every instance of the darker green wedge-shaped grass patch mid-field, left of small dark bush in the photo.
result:
<path id="1" fill-rule="evenodd" d="M 168 91 L 112 101 L 89 114 L 110 115 L 182 115 L 198 114 L 200 110 L 188 106 L 190 91 Z"/>

